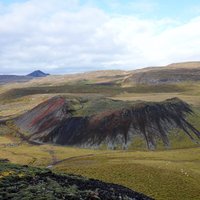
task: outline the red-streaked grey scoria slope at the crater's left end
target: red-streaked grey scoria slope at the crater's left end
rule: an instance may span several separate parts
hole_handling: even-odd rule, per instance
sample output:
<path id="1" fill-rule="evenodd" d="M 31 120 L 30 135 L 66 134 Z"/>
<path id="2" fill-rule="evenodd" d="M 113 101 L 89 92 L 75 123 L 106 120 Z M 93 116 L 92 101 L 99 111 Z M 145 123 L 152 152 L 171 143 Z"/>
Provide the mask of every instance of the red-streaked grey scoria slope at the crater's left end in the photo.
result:
<path id="1" fill-rule="evenodd" d="M 53 97 L 15 120 L 22 131 L 30 134 L 48 134 L 61 121 L 71 116 L 69 103 L 61 96 Z"/>

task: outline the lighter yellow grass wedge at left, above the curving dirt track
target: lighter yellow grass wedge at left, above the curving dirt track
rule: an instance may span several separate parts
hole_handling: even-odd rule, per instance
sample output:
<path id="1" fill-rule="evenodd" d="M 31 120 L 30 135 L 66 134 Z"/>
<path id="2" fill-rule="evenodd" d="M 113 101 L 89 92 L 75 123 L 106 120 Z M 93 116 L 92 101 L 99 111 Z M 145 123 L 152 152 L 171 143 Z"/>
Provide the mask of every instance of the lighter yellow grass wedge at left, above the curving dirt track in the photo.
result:
<path id="1" fill-rule="evenodd" d="M 0 158 L 7 158 L 11 162 L 18 164 L 47 167 L 53 162 L 73 156 L 86 156 L 103 152 L 103 150 L 97 151 L 50 144 L 36 146 L 13 141 L 8 136 L 0 136 Z"/>

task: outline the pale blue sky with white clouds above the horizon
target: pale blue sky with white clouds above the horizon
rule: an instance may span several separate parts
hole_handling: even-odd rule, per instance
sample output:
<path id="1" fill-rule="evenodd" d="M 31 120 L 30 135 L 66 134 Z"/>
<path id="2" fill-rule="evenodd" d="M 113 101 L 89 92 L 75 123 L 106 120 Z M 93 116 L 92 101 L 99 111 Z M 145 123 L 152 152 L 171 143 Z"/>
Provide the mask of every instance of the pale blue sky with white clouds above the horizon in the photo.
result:
<path id="1" fill-rule="evenodd" d="M 200 61 L 199 0 L 0 0 L 0 74 Z"/>

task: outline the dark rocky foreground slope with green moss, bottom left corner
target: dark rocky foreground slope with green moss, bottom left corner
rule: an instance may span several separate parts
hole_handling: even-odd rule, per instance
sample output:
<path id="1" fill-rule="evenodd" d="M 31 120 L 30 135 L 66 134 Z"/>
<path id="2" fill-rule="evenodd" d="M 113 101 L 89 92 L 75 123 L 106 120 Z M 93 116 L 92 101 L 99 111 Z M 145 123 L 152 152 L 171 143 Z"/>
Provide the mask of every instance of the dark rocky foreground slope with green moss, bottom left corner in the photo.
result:
<path id="1" fill-rule="evenodd" d="M 0 163 L 0 199 L 66 200 L 151 200 L 126 187 L 87 179 L 82 176 L 55 174 L 48 169 Z M 19 174 L 23 174 L 20 176 Z"/>

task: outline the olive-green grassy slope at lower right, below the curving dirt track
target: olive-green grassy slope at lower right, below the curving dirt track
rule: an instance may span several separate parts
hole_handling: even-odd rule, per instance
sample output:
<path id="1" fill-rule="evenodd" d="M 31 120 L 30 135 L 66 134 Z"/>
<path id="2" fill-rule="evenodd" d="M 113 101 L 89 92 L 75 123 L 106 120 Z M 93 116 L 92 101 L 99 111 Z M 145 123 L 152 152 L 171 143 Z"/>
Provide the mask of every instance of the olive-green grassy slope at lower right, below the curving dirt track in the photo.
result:
<path id="1" fill-rule="evenodd" d="M 55 169 L 121 184 L 155 199 L 197 200 L 200 197 L 199 148 L 111 152 L 74 158 Z"/>

